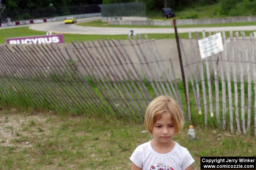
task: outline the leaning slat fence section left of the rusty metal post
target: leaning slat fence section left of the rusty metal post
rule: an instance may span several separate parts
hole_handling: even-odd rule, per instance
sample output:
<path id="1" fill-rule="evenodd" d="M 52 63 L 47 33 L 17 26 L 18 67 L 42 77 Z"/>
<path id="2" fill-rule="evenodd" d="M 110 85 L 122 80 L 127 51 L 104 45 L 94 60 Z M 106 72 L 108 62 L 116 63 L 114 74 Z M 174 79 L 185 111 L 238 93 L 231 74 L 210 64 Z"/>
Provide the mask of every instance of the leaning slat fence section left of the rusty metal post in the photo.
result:
<path id="1" fill-rule="evenodd" d="M 1 45 L 0 100 L 141 117 L 160 95 L 182 107 L 171 55 L 147 36 L 126 42 Z"/>

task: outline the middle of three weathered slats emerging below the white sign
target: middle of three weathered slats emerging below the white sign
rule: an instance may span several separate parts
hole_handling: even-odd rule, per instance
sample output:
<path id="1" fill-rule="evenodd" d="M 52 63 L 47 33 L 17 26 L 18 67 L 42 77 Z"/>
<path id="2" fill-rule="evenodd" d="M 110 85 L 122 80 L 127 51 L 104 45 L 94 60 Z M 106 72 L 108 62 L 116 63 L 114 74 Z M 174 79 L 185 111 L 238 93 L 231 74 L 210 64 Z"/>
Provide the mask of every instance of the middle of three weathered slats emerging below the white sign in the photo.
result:
<path id="1" fill-rule="evenodd" d="M 214 34 L 217 32 L 215 31 Z M 208 32 L 208 35 L 211 36 L 211 32 Z M 218 57 L 217 57 L 218 56 Z M 218 77 L 218 61 L 220 58 L 220 52 L 216 55 L 213 55 L 213 71 L 214 71 L 214 85 L 215 85 L 215 101 L 216 101 L 216 118 L 220 124 L 220 97 L 219 97 L 219 77 Z M 216 59 L 216 60 L 215 60 Z"/>

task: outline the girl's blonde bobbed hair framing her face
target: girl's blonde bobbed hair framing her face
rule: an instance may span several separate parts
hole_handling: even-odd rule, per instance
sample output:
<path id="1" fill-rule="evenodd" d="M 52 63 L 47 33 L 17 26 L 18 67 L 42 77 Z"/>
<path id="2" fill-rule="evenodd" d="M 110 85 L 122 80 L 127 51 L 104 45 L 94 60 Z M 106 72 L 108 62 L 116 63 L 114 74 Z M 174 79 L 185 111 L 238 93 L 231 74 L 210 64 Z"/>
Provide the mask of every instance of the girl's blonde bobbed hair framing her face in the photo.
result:
<path id="1" fill-rule="evenodd" d="M 144 125 L 149 133 L 152 133 L 153 125 L 165 112 L 170 114 L 176 133 L 183 129 L 184 117 L 177 102 L 169 96 L 159 96 L 148 104 L 145 111 Z"/>

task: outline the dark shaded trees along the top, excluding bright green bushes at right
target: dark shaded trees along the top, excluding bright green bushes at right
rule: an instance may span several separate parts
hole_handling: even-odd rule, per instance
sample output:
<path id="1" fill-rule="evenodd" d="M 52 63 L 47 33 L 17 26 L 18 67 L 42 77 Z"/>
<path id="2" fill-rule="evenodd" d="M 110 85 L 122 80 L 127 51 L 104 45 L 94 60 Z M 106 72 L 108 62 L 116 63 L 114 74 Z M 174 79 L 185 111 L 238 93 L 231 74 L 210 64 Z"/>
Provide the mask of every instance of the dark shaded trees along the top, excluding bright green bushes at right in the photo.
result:
<path id="1" fill-rule="evenodd" d="M 195 3 L 198 5 L 209 5 L 218 1 L 219 0 L 2 0 L 2 4 L 6 5 L 7 10 L 24 10 L 46 7 L 58 8 L 74 5 L 143 2 L 147 10 L 160 10 L 164 8 L 166 4 L 167 7 L 179 11 Z"/>

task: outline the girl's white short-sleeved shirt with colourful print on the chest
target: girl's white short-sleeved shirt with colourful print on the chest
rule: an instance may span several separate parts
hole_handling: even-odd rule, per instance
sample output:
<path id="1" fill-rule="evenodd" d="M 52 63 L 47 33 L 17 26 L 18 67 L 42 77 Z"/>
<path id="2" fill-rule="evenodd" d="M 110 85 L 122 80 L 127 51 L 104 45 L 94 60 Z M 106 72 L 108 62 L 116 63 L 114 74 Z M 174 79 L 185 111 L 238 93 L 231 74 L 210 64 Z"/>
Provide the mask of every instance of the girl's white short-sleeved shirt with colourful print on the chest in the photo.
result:
<path id="1" fill-rule="evenodd" d="M 142 170 L 184 170 L 195 160 L 189 151 L 175 142 L 169 153 L 157 153 L 150 141 L 139 145 L 130 157 L 131 161 Z"/>

